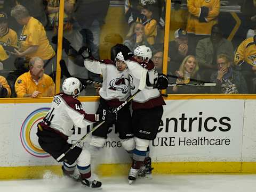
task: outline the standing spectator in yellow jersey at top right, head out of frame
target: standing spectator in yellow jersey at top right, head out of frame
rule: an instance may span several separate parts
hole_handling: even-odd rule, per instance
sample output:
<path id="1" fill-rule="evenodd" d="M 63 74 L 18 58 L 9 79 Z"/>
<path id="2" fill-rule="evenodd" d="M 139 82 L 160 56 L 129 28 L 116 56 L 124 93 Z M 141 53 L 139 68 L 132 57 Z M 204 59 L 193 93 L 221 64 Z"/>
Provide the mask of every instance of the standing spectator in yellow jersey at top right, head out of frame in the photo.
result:
<path id="1" fill-rule="evenodd" d="M 217 24 L 220 12 L 220 0 L 187 0 L 187 28 L 189 44 L 196 46 L 198 40 L 210 36 L 211 29 Z M 195 48 L 195 47 L 194 47 Z"/>

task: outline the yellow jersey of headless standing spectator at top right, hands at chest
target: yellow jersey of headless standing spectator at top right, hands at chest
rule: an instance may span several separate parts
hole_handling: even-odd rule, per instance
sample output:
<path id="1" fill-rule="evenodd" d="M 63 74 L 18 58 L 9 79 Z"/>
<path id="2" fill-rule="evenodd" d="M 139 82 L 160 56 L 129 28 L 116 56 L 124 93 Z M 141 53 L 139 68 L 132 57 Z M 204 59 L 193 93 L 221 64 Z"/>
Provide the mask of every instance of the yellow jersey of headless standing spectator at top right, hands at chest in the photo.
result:
<path id="1" fill-rule="evenodd" d="M 188 22 L 186 30 L 190 34 L 211 35 L 211 29 L 217 23 L 220 12 L 220 0 L 187 0 Z M 209 14 L 205 18 L 207 22 L 199 22 L 201 7 L 208 7 Z"/>

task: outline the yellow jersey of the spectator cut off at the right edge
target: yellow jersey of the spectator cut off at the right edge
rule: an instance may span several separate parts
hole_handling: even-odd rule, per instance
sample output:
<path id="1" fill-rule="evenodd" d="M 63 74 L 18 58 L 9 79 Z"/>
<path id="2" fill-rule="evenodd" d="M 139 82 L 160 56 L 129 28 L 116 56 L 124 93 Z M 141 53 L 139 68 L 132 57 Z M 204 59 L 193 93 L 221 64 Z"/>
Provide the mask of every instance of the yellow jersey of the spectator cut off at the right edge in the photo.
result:
<path id="1" fill-rule="evenodd" d="M 243 61 L 256 66 L 256 36 L 245 39 L 238 46 L 234 62 L 238 65 Z"/>

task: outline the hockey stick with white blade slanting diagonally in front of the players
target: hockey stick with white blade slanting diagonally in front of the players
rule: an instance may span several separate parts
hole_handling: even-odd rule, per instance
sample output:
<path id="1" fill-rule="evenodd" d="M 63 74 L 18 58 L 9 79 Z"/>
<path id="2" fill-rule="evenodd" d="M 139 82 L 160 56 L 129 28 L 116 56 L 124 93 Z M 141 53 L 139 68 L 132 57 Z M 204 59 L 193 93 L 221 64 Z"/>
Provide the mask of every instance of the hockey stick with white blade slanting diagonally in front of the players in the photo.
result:
<path id="1" fill-rule="evenodd" d="M 122 105 L 118 106 L 113 113 L 117 113 L 117 111 L 121 110 L 121 108 L 126 105 L 127 103 L 129 103 L 132 98 L 134 98 L 145 86 L 146 86 L 146 74 L 147 71 L 143 71 L 142 72 L 142 76 L 141 76 L 141 80 L 140 80 L 140 84 L 139 84 L 139 88 L 136 91 L 135 94 L 133 94 L 132 96 L 130 96 L 128 99 L 126 99 L 126 101 L 124 103 L 122 103 Z M 72 145 L 65 153 L 62 153 L 56 160 L 59 162 L 61 160 L 61 158 L 65 157 L 65 155 L 71 151 L 73 148 L 75 148 L 76 146 L 78 146 L 91 132 L 93 132 L 94 130 L 96 130 L 97 128 L 99 128 L 103 123 L 105 123 L 105 121 L 102 121 L 100 124 L 98 124 L 97 126 L 95 126 L 94 128 L 92 128 L 91 131 L 89 131 L 88 133 L 86 133 L 86 135 L 84 135 L 81 139 L 79 139 L 78 141 L 76 141 L 76 143 L 74 145 Z"/>

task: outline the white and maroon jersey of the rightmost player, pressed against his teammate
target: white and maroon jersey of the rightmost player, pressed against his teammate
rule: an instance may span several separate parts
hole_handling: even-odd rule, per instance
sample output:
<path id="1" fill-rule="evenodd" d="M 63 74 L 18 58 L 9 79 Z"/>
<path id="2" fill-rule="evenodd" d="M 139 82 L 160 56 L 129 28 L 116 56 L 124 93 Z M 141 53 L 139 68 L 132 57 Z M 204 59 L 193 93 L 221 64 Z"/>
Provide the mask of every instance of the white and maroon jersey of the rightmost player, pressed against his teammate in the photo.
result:
<path id="1" fill-rule="evenodd" d="M 126 60 L 127 68 L 130 74 L 130 84 L 134 86 L 131 88 L 132 95 L 138 91 L 140 80 L 143 71 L 147 70 L 149 84 L 156 84 L 158 73 L 155 70 L 154 63 L 150 60 L 148 63 L 138 63 L 133 57 Z M 132 107 L 134 110 L 139 108 L 153 108 L 156 106 L 165 105 L 164 99 L 158 89 L 153 86 L 147 86 L 142 89 L 132 100 Z"/>

